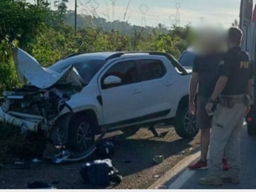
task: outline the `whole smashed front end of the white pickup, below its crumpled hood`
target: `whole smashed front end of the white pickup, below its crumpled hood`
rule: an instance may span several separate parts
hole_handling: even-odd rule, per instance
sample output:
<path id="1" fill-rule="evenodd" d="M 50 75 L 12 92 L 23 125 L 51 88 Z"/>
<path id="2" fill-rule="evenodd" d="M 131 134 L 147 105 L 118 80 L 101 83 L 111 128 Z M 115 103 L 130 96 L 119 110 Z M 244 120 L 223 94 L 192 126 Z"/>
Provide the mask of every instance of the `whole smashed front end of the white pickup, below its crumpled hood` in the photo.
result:
<path id="1" fill-rule="evenodd" d="M 42 130 L 44 135 L 51 138 L 55 144 L 63 143 L 63 132 L 58 122 L 59 114 L 65 107 L 65 102 L 70 100 L 72 94 L 76 92 L 64 85 L 45 90 L 24 85 L 22 88 L 5 91 L 1 105 L 6 116 L 1 118 L 5 118 L 8 123 L 20 126 L 21 133 L 26 133 L 28 130 L 36 132 Z M 22 124 L 18 120 L 21 120 Z M 36 127 L 33 127 L 33 124 Z"/>

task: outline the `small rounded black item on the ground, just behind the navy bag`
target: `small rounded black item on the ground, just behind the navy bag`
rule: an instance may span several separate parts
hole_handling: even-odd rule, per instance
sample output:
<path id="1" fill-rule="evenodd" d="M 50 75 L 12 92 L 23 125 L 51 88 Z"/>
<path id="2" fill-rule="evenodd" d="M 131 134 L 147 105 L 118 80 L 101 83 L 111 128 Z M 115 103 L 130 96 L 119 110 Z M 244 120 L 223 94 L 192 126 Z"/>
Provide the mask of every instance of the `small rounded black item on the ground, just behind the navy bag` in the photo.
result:
<path id="1" fill-rule="evenodd" d="M 114 156 L 115 147 L 111 142 L 100 142 L 96 145 L 95 154 L 100 159 L 110 159 Z"/>

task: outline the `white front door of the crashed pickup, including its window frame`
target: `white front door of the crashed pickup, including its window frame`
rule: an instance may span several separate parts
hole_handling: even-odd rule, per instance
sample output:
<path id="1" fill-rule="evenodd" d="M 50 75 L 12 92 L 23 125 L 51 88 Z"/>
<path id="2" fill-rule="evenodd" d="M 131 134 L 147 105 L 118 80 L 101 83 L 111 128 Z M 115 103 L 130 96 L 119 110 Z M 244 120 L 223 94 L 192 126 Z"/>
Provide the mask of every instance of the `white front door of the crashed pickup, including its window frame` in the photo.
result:
<path id="1" fill-rule="evenodd" d="M 142 116 L 141 83 L 128 84 L 108 89 L 101 88 L 100 80 L 104 74 L 115 64 L 132 60 L 126 58 L 111 62 L 98 76 L 98 86 L 103 102 L 104 124 L 121 122 Z"/>

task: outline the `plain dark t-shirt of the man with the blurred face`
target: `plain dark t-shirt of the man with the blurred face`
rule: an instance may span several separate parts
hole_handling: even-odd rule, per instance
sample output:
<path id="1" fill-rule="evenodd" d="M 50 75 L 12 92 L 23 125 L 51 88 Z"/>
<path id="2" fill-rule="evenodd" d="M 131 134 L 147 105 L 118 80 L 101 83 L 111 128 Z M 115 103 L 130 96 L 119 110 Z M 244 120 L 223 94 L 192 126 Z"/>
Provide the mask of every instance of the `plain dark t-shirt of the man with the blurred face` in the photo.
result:
<path id="1" fill-rule="evenodd" d="M 218 66 L 222 54 L 197 56 L 193 64 L 193 72 L 198 72 L 198 96 L 210 98 L 218 80 Z"/>

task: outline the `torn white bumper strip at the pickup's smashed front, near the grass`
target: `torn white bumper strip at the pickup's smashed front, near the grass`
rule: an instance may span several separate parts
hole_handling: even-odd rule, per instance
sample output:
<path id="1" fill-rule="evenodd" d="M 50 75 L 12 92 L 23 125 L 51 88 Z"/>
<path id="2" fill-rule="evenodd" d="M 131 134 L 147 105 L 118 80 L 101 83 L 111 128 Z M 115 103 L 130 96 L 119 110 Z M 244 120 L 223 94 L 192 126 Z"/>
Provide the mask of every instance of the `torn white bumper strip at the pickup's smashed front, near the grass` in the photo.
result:
<path id="1" fill-rule="evenodd" d="M 20 118 L 16 118 L 14 116 L 9 115 L 8 113 L 5 113 L 2 110 L 2 107 L 0 107 L 0 122 L 8 123 L 14 126 L 18 127 L 25 127 L 30 131 L 37 132 L 38 124 L 34 122 L 29 122 Z"/>

